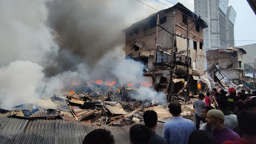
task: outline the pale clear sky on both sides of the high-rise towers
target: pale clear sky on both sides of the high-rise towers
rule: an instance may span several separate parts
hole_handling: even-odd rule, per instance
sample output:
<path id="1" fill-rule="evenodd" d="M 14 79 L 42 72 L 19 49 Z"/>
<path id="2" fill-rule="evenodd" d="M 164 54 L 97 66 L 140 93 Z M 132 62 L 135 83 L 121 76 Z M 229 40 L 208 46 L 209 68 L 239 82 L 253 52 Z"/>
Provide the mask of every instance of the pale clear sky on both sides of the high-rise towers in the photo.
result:
<path id="1" fill-rule="evenodd" d="M 135 0 L 136 1 L 136 0 Z M 194 11 L 194 0 L 141 0 L 145 2 L 146 4 L 161 10 L 168 8 L 167 6 L 161 4 L 158 1 L 161 1 L 162 3 L 173 6 L 172 3 L 168 2 L 171 1 L 174 4 L 177 2 L 180 2 L 187 8 L 189 8 L 191 11 Z M 143 5 L 139 1 L 138 5 Z M 246 0 L 229 0 L 229 5 L 232 5 L 235 9 L 237 16 L 235 21 L 235 40 L 254 40 L 254 41 L 235 41 L 235 46 L 241 46 L 241 45 L 248 45 L 248 44 L 254 44 L 256 43 L 256 15 L 252 11 L 251 7 L 249 6 L 248 2 Z M 152 9 L 148 6 L 143 6 L 143 9 L 147 9 L 147 11 L 150 11 L 149 9 Z M 152 13 L 157 12 L 154 9 L 152 10 Z M 152 14 L 151 13 L 151 14 Z"/>

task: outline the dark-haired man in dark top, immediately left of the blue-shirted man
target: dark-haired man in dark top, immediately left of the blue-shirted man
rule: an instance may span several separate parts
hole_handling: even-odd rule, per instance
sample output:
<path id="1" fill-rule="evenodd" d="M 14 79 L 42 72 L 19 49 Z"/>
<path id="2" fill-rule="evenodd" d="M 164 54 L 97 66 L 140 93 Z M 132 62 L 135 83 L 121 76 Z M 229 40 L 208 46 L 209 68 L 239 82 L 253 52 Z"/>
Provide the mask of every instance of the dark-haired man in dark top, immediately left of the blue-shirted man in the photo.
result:
<path id="1" fill-rule="evenodd" d="M 155 133 L 155 128 L 157 126 L 157 113 L 153 110 L 145 111 L 143 114 L 143 119 L 145 125 L 151 129 L 152 136 L 148 141 L 148 144 L 167 144 L 163 137 L 158 136 Z"/>

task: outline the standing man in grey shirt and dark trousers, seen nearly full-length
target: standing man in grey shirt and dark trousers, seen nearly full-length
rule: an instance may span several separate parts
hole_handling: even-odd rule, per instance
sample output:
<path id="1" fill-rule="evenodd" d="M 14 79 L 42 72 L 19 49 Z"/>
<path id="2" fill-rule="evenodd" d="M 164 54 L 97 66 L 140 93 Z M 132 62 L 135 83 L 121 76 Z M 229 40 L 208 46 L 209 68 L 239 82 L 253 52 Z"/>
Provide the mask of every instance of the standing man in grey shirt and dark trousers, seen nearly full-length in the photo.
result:
<path id="1" fill-rule="evenodd" d="M 196 109 L 195 117 L 196 117 L 196 129 L 199 129 L 200 122 L 206 123 L 205 119 L 202 117 L 202 108 L 206 106 L 204 100 L 204 94 L 200 93 L 198 99 L 193 102 L 193 107 Z"/>

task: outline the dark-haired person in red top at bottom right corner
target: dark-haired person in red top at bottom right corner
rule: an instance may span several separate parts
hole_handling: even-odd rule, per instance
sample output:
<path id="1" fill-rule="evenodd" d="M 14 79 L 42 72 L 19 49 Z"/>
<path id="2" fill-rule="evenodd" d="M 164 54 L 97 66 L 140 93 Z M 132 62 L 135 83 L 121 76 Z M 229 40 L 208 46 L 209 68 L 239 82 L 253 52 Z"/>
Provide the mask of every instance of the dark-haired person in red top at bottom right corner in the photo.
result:
<path id="1" fill-rule="evenodd" d="M 237 120 L 242 139 L 235 141 L 226 141 L 223 144 L 256 144 L 256 114 L 251 111 L 243 110 L 238 112 Z"/>

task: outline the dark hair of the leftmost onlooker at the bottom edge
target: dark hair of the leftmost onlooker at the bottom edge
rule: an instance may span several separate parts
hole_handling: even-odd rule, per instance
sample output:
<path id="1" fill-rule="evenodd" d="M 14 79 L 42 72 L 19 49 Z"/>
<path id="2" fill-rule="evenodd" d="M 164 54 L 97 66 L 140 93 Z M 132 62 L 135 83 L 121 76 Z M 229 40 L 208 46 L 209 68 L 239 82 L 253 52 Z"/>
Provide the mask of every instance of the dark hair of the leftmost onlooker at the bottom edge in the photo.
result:
<path id="1" fill-rule="evenodd" d="M 114 136 L 105 129 L 96 129 L 89 132 L 83 140 L 83 144 L 114 144 Z"/>

